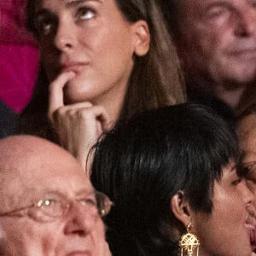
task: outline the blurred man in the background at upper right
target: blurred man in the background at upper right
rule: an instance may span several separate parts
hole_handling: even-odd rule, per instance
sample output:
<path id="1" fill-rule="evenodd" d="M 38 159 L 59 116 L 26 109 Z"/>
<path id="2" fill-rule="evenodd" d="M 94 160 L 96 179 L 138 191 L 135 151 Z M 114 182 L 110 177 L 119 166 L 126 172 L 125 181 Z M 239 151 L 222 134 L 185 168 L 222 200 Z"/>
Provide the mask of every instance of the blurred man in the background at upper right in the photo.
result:
<path id="1" fill-rule="evenodd" d="M 163 0 L 189 98 L 216 96 L 240 112 L 256 98 L 256 2 Z"/>

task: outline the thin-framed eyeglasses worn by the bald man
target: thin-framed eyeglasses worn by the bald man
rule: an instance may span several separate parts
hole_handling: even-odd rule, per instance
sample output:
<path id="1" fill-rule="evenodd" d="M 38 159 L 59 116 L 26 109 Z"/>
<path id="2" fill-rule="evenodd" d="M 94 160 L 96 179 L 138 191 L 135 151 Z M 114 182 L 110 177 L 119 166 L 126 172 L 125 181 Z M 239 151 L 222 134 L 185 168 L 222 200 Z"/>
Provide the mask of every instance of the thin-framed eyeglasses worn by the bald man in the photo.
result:
<path id="1" fill-rule="evenodd" d="M 107 195 L 94 191 L 90 195 L 85 195 L 74 201 L 68 200 L 64 195 L 59 193 L 50 193 L 43 199 L 27 207 L 21 207 L 11 212 L 0 213 L 3 216 L 25 216 L 26 214 L 41 222 L 52 221 L 55 218 L 62 218 L 67 215 L 73 204 L 79 204 L 84 207 L 92 217 L 104 217 L 110 212 L 113 202 Z"/>

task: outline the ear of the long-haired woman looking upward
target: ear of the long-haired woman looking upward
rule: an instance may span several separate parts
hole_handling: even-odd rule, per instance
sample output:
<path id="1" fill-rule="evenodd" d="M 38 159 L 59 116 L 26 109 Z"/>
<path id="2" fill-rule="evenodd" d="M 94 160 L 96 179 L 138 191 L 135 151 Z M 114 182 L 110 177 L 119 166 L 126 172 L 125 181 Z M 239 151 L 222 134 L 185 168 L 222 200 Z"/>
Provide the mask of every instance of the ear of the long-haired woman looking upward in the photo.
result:
<path id="1" fill-rule="evenodd" d="M 150 33 L 148 23 L 145 20 L 138 20 L 134 25 L 134 53 L 143 56 L 148 53 L 150 44 Z"/>

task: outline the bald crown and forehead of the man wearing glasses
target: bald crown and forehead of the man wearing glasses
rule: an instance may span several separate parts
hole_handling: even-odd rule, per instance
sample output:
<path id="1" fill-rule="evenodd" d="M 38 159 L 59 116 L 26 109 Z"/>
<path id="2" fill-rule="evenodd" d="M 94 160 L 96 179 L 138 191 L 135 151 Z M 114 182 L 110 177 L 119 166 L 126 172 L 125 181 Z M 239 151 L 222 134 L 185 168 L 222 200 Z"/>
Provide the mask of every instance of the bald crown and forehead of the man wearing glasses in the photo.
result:
<path id="1" fill-rule="evenodd" d="M 79 162 L 58 145 L 32 136 L 0 140 L 0 212 L 18 207 L 26 194 L 40 193 L 71 177 L 91 187 Z"/>

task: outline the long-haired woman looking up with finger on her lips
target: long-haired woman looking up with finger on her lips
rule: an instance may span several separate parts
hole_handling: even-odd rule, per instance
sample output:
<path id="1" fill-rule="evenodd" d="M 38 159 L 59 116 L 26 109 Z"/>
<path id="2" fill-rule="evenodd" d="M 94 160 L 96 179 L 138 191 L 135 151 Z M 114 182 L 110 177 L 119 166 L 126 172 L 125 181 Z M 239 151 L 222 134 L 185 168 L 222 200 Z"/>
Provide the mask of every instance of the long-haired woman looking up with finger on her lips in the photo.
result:
<path id="1" fill-rule="evenodd" d="M 183 79 L 157 0 L 28 1 L 38 85 L 19 132 L 85 152 L 120 118 L 184 102 Z"/>

